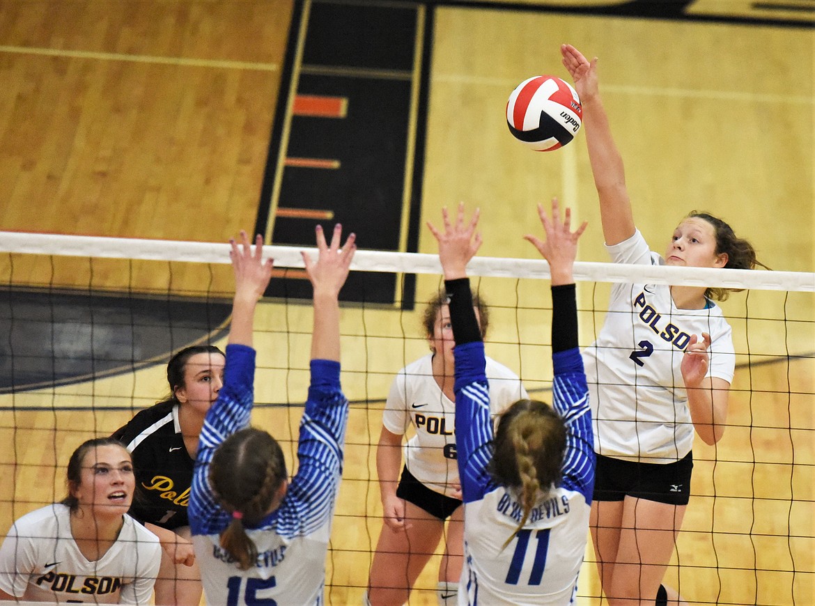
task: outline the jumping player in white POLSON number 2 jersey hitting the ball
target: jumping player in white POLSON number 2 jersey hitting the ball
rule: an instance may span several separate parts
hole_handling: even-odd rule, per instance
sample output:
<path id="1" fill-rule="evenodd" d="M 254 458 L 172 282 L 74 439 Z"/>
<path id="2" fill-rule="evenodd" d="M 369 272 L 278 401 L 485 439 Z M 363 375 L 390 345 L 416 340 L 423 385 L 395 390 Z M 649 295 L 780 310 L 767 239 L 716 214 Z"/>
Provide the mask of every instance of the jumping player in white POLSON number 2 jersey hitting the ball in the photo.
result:
<path id="1" fill-rule="evenodd" d="M 597 59 L 588 61 L 568 44 L 561 55 L 583 102 L 606 245 L 617 262 L 660 262 L 634 223 Z M 710 269 L 757 264 L 747 240 L 721 219 L 697 212 L 676 226 L 664 259 L 667 266 Z M 662 580 L 689 502 L 694 429 L 711 445 L 725 432 L 734 348 L 713 300 L 727 296 L 725 288 L 688 283 L 615 286 L 597 343 L 586 350 L 597 424 L 591 528 L 611 602 L 681 602 Z"/>

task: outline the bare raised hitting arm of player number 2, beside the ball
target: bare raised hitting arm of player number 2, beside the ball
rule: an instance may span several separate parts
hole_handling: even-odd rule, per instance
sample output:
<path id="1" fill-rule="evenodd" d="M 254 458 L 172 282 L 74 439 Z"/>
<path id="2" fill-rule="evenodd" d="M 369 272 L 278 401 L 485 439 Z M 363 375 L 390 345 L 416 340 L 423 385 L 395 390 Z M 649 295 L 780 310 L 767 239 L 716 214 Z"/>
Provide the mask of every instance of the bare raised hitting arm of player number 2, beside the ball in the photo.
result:
<path id="1" fill-rule="evenodd" d="M 625 187 L 623 158 L 611 135 L 606 109 L 600 99 L 597 57 L 589 62 L 571 44 L 561 46 L 561 55 L 583 105 L 588 160 L 600 198 L 603 237 L 606 244 L 619 244 L 634 235 L 634 218 Z"/>

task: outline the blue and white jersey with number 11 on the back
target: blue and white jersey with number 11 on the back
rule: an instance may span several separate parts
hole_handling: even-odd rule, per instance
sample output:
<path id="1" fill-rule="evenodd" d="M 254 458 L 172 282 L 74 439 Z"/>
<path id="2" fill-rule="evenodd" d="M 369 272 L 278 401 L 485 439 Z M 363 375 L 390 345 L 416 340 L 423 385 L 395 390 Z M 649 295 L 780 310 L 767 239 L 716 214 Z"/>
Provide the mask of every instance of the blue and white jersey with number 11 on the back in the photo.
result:
<path id="1" fill-rule="evenodd" d="M 553 408 L 566 424 L 562 481 L 523 529 L 518 495 L 487 471 L 493 455 L 483 343 L 456 347 L 456 444 L 465 502 L 459 604 L 571 604 L 588 539 L 594 488 L 592 418 L 578 348 L 553 354 Z"/>

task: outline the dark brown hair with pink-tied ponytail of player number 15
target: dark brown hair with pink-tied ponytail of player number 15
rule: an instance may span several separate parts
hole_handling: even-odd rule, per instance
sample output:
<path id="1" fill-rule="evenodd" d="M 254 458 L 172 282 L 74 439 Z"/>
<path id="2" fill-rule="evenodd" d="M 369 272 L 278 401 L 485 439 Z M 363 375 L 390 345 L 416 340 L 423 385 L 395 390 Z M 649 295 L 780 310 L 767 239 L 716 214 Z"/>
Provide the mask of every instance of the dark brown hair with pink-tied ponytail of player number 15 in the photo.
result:
<path id="1" fill-rule="evenodd" d="M 209 465 L 209 483 L 215 497 L 230 512 L 230 524 L 221 533 L 221 547 L 247 570 L 258 560 L 258 548 L 246 534 L 271 511 L 275 494 L 286 480 L 283 450 L 275 438 L 246 428 L 223 441 Z"/>

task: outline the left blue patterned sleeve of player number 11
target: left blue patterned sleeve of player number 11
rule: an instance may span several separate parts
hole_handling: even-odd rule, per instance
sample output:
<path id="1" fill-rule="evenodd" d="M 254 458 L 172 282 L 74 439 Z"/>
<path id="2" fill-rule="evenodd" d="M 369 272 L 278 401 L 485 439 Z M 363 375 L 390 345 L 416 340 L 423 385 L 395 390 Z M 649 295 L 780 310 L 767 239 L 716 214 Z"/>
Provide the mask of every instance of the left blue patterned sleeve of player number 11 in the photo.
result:
<path id="1" fill-rule="evenodd" d="M 482 341 L 456 345 L 456 453 L 464 502 L 483 498 L 492 485 L 490 389 Z"/>

